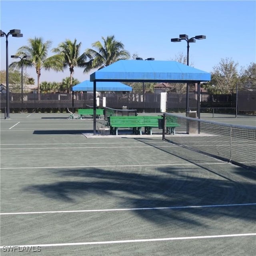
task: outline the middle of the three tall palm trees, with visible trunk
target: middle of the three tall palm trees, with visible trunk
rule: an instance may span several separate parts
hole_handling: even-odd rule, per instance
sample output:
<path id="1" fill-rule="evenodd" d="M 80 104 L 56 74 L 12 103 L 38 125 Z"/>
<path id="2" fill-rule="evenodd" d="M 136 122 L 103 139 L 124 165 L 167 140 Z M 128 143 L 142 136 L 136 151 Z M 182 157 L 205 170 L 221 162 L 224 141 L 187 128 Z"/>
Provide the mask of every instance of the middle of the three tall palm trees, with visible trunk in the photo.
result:
<path id="1" fill-rule="evenodd" d="M 67 92 L 69 92 L 70 88 L 72 87 L 74 68 L 81 67 L 84 61 L 87 59 L 86 54 L 82 54 L 81 56 L 79 56 L 81 45 L 81 42 L 79 44 L 76 44 L 76 39 L 74 40 L 74 42 L 66 39 L 65 42 L 61 42 L 57 48 L 54 48 L 52 50 L 53 52 L 60 54 L 64 58 L 63 67 L 69 67 L 70 83 L 67 88 Z"/>

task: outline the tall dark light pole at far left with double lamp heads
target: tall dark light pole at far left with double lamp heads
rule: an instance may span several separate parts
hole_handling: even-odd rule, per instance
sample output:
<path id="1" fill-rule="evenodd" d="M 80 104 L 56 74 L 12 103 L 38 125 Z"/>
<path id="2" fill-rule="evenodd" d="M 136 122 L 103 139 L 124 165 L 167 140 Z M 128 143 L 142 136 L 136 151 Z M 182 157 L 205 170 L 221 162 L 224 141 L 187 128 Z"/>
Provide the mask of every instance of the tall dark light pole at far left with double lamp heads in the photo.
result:
<path id="1" fill-rule="evenodd" d="M 10 98 L 9 98 L 9 66 L 8 66 L 8 36 L 12 35 L 13 37 L 22 37 L 23 34 L 20 34 L 19 29 L 12 29 L 7 34 L 0 30 L 0 36 L 6 37 L 6 118 L 10 118 Z"/>

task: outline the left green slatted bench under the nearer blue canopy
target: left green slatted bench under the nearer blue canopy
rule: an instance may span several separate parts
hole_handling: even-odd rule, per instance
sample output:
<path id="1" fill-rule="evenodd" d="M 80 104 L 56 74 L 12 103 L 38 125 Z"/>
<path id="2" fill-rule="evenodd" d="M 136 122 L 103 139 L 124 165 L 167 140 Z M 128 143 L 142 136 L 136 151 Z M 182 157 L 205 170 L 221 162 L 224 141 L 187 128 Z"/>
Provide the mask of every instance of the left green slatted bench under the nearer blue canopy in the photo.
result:
<path id="1" fill-rule="evenodd" d="M 118 128 L 133 128 L 133 133 L 142 135 L 143 116 L 109 116 L 110 133 L 118 135 Z"/>

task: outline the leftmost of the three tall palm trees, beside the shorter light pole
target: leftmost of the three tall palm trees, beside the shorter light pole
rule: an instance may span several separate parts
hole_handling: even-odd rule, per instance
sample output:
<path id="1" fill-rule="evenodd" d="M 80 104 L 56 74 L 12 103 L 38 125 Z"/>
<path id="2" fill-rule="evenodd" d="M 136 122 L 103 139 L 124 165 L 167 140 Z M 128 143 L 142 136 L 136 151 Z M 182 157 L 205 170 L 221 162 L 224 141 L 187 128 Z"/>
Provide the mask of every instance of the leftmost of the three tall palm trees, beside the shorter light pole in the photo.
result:
<path id="1" fill-rule="evenodd" d="M 55 71 L 62 71 L 63 58 L 59 54 L 47 58 L 48 50 L 52 45 L 52 42 L 49 40 L 44 42 L 41 37 L 35 37 L 29 38 L 28 43 L 28 46 L 21 46 L 16 55 L 21 56 L 26 54 L 30 56 L 30 58 L 23 60 L 23 65 L 25 67 L 36 68 L 38 95 L 40 95 L 40 76 L 42 68 L 45 70 L 53 69 Z M 10 66 L 21 66 L 21 61 L 12 62 Z"/>

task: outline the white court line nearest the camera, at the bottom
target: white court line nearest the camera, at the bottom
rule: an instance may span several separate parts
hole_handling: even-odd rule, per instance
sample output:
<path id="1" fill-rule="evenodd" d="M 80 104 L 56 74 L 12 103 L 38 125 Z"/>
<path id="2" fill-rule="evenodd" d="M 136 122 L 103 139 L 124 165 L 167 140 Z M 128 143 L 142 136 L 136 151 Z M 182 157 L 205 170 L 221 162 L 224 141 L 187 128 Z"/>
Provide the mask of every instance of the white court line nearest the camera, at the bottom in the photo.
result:
<path id="1" fill-rule="evenodd" d="M 184 236 L 184 237 L 170 237 L 170 238 L 152 238 L 152 239 L 134 239 L 134 240 L 117 240 L 117 241 L 102 241 L 102 242 L 80 242 L 80 243 L 62 243 L 62 244 L 26 244 L 14 245 L 18 247 L 53 247 L 53 246 L 74 246 L 74 245 L 92 245 L 92 244 L 122 244 L 122 243 L 136 243 L 136 242 L 158 242 L 170 240 L 189 240 L 189 239 L 205 239 L 205 238 L 223 238 L 223 237 L 237 237 L 237 236 L 255 236 L 256 233 L 247 234 L 227 234 L 227 235 L 212 235 L 212 236 Z M 7 245 L 6 245 L 7 246 Z M 0 246 L 4 248 L 6 246 Z M 9 245 L 13 246 L 13 245 Z"/>

